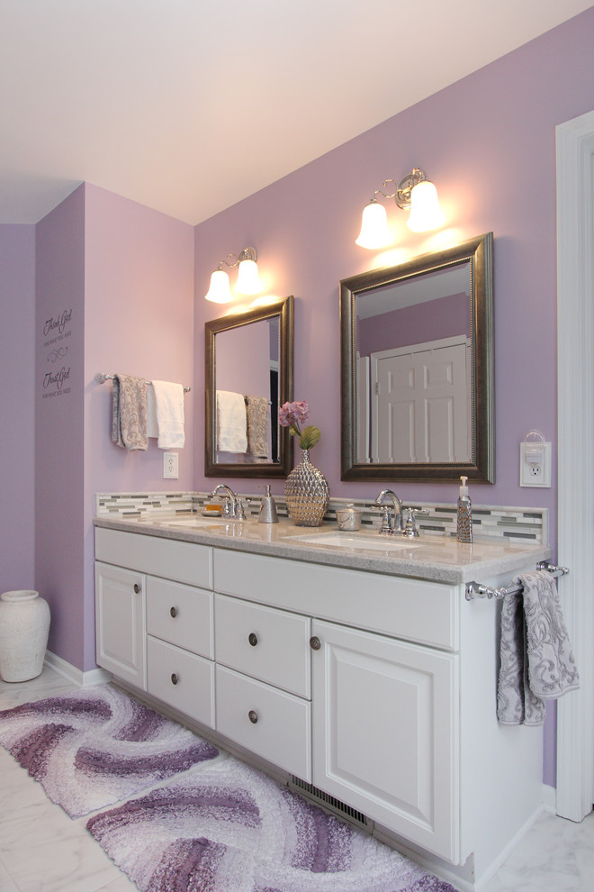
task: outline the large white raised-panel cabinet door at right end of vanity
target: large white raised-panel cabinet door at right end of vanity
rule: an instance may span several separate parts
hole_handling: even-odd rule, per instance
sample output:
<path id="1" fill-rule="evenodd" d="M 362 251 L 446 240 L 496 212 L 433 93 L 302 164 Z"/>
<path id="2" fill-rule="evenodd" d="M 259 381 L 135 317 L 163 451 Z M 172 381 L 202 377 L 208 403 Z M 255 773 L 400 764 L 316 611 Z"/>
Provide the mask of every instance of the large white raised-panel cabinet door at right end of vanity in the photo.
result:
<path id="1" fill-rule="evenodd" d="M 314 784 L 456 861 L 458 658 L 332 623 L 313 633 Z"/>

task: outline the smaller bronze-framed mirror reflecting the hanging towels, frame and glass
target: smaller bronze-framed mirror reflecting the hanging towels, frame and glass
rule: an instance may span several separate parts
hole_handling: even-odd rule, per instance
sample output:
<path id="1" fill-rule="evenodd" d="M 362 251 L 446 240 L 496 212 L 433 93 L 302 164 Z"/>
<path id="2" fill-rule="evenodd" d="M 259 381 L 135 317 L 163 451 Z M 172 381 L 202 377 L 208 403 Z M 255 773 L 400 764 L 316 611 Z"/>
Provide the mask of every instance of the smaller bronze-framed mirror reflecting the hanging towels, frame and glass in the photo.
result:
<path id="1" fill-rule="evenodd" d="M 293 400 L 293 296 L 204 329 L 204 474 L 286 477 L 293 442 L 278 409 Z"/>

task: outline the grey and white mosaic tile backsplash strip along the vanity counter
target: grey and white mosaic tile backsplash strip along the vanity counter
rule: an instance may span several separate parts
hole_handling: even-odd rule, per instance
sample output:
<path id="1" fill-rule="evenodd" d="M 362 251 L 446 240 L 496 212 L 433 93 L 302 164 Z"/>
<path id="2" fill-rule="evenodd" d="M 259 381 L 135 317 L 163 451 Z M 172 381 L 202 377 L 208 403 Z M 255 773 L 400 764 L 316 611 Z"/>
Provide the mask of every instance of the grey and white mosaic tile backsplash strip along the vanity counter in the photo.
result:
<path id="1" fill-rule="evenodd" d="M 263 496 L 240 494 L 244 500 L 246 517 L 256 519 Z M 108 517 L 139 517 L 141 515 L 192 514 L 202 505 L 211 502 L 209 493 L 98 493 L 95 496 L 95 514 Z M 275 496 L 279 517 L 287 517 L 283 496 Z M 374 502 L 365 499 L 331 498 L 324 520 L 335 522 L 337 508 L 344 505 L 363 508 L 362 528 L 379 529 L 381 514 Z M 417 517 L 421 533 L 431 536 L 456 534 L 456 506 L 453 503 L 416 502 L 419 508 L 428 508 L 429 514 Z M 533 542 L 548 544 L 548 509 L 501 507 L 500 505 L 473 505 L 473 536 L 475 539 L 505 540 L 507 542 Z"/>

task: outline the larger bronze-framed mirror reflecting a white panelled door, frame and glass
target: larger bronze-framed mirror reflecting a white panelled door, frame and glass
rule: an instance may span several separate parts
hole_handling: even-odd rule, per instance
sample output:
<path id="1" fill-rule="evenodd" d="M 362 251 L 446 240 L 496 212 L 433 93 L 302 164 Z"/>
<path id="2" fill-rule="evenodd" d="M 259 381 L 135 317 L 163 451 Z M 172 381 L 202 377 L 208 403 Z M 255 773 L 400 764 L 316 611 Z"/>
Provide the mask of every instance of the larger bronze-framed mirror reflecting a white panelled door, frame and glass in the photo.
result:
<path id="1" fill-rule="evenodd" d="M 341 281 L 343 480 L 495 482 L 492 238 Z"/>

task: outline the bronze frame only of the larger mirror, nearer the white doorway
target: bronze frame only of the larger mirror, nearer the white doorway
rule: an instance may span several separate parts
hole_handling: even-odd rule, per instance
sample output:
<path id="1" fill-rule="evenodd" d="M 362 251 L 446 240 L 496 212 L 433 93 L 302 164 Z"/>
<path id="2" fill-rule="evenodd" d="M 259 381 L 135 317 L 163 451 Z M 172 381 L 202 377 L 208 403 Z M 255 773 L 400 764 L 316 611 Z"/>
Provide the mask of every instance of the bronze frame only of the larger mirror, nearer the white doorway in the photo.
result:
<path id="1" fill-rule="evenodd" d="M 493 377 L 493 233 L 454 248 L 423 254 L 406 263 L 373 269 L 340 282 L 340 412 L 342 480 L 419 480 L 447 482 L 464 474 L 470 480 L 495 482 Z M 473 331 L 473 456 L 469 463 L 356 463 L 356 296 L 403 279 L 470 261 Z"/>

